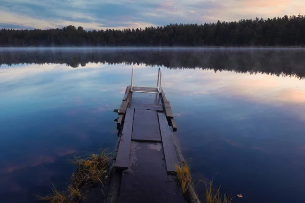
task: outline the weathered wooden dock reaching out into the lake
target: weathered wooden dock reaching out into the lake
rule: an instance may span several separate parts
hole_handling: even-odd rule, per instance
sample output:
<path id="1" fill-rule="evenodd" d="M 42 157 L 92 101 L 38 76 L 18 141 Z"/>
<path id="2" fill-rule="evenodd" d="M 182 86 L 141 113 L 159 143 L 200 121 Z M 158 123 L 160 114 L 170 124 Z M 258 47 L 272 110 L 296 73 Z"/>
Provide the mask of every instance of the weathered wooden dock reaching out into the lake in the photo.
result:
<path id="1" fill-rule="evenodd" d="M 106 202 L 187 202 L 174 174 L 184 162 L 177 127 L 160 89 L 128 86 L 115 111 L 119 141 Z"/>

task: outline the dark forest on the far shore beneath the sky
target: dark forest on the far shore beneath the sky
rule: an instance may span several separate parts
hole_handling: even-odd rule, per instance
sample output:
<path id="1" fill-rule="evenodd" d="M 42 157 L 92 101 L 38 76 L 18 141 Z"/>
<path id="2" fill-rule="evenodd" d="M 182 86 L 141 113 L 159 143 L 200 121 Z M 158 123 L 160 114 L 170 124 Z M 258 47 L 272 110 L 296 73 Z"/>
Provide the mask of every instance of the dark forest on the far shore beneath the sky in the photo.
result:
<path id="1" fill-rule="evenodd" d="M 0 30 L 0 46 L 303 46 L 305 16 L 170 24 L 144 29 Z"/>

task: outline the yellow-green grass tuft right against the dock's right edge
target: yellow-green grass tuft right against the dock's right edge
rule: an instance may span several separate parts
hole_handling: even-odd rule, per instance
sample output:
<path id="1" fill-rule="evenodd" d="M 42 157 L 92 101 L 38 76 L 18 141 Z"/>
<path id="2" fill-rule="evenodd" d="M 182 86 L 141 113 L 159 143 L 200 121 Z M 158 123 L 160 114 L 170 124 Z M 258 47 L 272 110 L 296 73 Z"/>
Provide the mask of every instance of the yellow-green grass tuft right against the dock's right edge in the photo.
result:
<path id="1" fill-rule="evenodd" d="M 175 164 L 175 172 L 177 179 L 180 182 L 182 192 L 183 194 L 186 194 L 189 191 L 192 182 L 190 168 L 186 163 L 182 166 Z"/>

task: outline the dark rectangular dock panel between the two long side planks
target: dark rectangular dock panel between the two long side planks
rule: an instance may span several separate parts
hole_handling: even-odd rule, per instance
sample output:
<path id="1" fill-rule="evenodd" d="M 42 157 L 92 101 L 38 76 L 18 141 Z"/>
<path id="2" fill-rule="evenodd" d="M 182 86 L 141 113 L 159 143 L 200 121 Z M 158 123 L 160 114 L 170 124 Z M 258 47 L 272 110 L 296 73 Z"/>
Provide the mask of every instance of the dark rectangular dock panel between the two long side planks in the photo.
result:
<path id="1" fill-rule="evenodd" d="M 135 109 L 132 140 L 161 142 L 157 111 Z"/>

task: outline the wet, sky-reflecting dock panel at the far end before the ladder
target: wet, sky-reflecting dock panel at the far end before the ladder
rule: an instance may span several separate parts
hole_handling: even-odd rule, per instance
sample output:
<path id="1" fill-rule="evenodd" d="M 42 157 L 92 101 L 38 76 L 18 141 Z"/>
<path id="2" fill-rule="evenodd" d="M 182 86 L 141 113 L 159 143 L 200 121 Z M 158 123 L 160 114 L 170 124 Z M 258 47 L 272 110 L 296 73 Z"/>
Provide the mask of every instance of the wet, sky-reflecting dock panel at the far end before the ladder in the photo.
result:
<path id="1" fill-rule="evenodd" d="M 160 95 L 154 93 L 133 92 L 130 108 L 163 111 Z"/>

